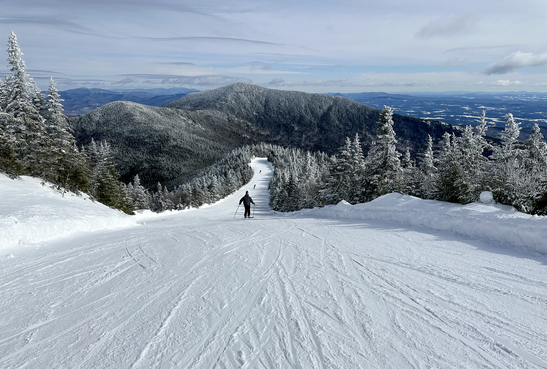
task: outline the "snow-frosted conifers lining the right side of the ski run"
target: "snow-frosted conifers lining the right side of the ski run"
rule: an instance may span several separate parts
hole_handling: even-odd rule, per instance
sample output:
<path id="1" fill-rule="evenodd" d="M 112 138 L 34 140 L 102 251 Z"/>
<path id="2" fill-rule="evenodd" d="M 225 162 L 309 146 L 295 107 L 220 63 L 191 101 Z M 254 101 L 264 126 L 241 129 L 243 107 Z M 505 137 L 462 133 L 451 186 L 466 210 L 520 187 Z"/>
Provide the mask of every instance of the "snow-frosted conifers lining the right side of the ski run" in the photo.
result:
<path id="1" fill-rule="evenodd" d="M 483 112 L 475 130 L 467 126 L 461 136 L 445 133 L 435 145 L 428 136 L 426 149 L 413 160 L 409 151 L 397 151 L 392 111 L 385 107 L 366 156 L 358 134 L 330 158 L 278 151 L 271 158 L 270 206 L 295 211 L 341 200 L 357 204 L 391 192 L 468 204 L 490 191 L 499 204 L 547 215 L 547 143 L 537 124 L 528 140 L 517 141 L 520 125 L 512 114 L 506 118 L 499 144 L 486 141 Z"/>

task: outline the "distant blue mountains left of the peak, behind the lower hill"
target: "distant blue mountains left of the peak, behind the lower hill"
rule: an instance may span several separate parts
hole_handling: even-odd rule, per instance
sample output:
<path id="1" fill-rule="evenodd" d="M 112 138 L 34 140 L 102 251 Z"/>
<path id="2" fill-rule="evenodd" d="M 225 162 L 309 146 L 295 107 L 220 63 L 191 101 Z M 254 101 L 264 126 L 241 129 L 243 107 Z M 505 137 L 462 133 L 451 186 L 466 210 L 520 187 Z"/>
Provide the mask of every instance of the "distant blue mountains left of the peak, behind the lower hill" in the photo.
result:
<path id="1" fill-rule="evenodd" d="M 79 116 L 113 101 L 133 101 L 144 105 L 161 106 L 196 91 L 199 90 L 181 87 L 133 90 L 76 88 L 59 91 L 59 94 L 61 95 L 61 98 L 65 100 L 63 102 L 65 114 L 68 116 Z"/>

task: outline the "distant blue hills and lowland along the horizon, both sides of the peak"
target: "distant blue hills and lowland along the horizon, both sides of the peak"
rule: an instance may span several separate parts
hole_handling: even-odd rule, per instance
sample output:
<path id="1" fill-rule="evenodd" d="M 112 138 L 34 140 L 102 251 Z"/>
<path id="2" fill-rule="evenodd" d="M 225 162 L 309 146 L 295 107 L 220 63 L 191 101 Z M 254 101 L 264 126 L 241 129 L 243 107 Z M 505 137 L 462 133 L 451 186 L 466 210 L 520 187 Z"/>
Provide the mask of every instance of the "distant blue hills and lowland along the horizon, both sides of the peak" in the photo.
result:
<path id="1" fill-rule="evenodd" d="M 143 105 L 162 106 L 181 97 L 197 92 L 184 87 L 154 89 L 112 89 L 77 88 L 60 91 L 65 100 L 65 114 L 79 116 L 113 101 L 133 101 Z M 467 125 L 476 124 L 482 110 L 491 125 L 505 125 L 505 114 L 513 113 L 523 127 L 534 123 L 547 126 L 547 93 L 526 91 L 510 93 L 487 93 L 448 91 L 441 93 L 327 93 L 325 95 L 344 96 L 348 99 L 375 108 L 391 106 L 395 112 L 406 116 L 440 120 L 441 122 Z"/>

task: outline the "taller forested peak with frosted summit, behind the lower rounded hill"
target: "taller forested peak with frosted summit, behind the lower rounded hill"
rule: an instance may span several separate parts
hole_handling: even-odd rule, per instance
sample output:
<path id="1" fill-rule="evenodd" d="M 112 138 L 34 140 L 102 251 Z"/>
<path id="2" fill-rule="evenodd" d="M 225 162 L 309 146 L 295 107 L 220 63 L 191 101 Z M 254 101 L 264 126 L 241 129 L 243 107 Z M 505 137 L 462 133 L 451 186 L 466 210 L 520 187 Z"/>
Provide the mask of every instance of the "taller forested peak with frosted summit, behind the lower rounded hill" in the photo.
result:
<path id="1" fill-rule="evenodd" d="M 245 82 L 191 93 L 165 107 L 224 112 L 251 124 L 264 142 L 333 154 L 359 133 L 365 149 L 371 142 L 380 110 L 346 97 L 276 90 Z M 393 114 L 401 151 L 421 152 L 427 135 L 440 139 L 452 125 Z M 459 129 L 459 128 L 458 128 Z"/>

